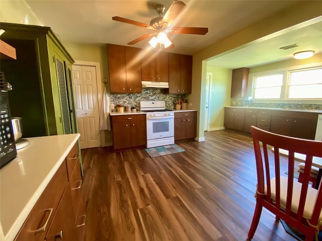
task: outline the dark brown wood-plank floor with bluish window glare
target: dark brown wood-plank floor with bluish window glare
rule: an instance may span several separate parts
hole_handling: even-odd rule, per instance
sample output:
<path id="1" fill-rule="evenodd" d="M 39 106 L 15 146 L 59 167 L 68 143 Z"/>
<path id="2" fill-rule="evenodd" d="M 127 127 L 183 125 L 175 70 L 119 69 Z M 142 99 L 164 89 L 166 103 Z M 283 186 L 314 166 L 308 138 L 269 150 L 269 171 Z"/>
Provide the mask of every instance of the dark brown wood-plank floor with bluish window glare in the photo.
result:
<path id="1" fill-rule="evenodd" d="M 156 158 L 144 149 L 82 150 L 85 240 L 247 240 L 257 182 L 252 139 L 226 130 L 205 139 Z M 252 240 L 295 239 L 263 210 Z"/>

